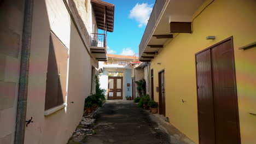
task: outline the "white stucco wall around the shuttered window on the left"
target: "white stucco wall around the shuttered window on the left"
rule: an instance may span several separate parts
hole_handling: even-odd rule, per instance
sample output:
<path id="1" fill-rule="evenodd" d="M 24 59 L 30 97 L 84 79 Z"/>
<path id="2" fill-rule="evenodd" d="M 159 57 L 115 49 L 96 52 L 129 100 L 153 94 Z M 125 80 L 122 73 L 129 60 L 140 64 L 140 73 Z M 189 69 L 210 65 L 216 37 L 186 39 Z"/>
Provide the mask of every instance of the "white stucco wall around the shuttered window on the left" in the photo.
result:
<path id="1" fill-rule="evenodd" d="M 33 117 L 34 122 L 26 127 L 25 143 L 67 143 L 83 116 L 84 99 L 91 92 L 91 67 L 97 68 L 97 61 L 86 51 L 89 46 L 82 43 L 62 0 L 36 0 L 33 10 L 26 119 Z M 69 52 L 67 106 L 44 116 L 50 31 Z"/>

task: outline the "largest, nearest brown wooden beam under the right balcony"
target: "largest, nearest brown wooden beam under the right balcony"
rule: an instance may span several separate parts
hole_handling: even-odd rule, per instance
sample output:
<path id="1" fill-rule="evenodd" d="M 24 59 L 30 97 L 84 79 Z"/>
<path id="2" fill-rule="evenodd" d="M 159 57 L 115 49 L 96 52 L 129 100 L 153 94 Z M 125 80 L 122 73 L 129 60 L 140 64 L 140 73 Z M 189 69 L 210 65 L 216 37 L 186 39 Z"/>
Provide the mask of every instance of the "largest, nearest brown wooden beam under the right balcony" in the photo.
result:
<path id="1" fill-rule="evenodd" d="M 171 33 L 191 33 L 191 22 L 170 22 Z"/>

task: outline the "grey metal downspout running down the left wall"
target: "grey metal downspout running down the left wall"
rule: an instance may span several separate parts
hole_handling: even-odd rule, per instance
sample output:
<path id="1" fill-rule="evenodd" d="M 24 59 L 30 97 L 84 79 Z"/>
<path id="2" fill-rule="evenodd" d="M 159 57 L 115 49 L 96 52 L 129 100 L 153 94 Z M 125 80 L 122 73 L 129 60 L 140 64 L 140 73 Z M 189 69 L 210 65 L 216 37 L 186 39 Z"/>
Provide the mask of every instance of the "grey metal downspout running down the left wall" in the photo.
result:
<path id="1" fill-rule="evenodd" d="M 24 23 L 21 47 L 21 65 L 19 80 L 18 108 L 16 117 L 15 144 L 23 144 L 27 112 L 27 86 L 30 68 L 31 33 L 33 18 L 33 0 L 25 0 Z"/>

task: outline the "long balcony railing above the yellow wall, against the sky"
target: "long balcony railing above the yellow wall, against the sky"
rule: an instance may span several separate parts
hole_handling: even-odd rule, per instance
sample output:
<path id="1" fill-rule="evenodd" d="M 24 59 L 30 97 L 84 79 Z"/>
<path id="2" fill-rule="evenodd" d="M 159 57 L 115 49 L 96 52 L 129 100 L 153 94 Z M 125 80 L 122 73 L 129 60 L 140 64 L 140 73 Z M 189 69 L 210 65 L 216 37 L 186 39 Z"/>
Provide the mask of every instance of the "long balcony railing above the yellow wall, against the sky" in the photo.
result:
<path id="1" fill-rule="evenodd" d="M 156 24 L 156 21 L 158 21 L 161 11 L 162 11 L 162 9 L 164 9 L 166 2 L 167 2 L 167 0 L 156 0 L 155 1 L 154 8 L 153 8 L 152 13 L 148 20 L 148 25 L 147 25 L 147 27 L 144 31 L 143 37 L 141 39 L 141 44 L 139 44 L 139 55 L 140 56 L 141 56 L 141 53 L 142 53 L 144 47 L 146 47 L 147 41 L 153 32 L 153 28 Z"/>

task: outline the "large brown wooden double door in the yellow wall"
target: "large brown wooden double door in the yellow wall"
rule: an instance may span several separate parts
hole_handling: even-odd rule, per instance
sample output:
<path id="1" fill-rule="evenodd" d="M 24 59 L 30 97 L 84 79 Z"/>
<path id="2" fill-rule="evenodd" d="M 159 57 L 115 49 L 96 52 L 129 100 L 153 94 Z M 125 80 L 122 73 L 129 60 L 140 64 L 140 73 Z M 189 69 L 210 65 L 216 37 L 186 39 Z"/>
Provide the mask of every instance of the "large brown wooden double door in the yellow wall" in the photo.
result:
<path id="1" fill-rule="evenodd" d="M 200 144 L 238 144 L 240 126 L 232 37 L 196 53 Z"/>

